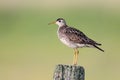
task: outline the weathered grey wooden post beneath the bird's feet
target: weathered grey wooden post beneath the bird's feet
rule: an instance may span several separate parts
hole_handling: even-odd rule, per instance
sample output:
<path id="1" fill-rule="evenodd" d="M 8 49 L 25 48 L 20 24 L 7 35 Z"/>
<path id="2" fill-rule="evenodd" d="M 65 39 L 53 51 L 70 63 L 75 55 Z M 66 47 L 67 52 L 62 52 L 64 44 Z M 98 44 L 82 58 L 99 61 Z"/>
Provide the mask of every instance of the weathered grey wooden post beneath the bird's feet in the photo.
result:
<path id="1" fill-rule="evenodd" d="M 85 71 L 82 66 L 58 64 L 53 80 L 84 80 L 84 77 Z"/>

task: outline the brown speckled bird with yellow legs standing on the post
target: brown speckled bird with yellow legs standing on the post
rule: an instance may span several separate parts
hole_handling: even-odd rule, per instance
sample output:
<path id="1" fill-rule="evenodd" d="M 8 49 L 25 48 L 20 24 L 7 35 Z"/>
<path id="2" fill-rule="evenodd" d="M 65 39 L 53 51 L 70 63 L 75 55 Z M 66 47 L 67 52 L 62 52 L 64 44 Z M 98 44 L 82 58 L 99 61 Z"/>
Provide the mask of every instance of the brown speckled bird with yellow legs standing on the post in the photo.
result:
<path id="1" fill-rule="evenodd" d="M 58 25 L 58 30 L 57 30 L 58 38 L 63 44 L 74 49 L 73 65 L 77 65 L 78 63 L 78 54 L 79 54 L 78 48 L 94 47 L 104 52 L 103 49 L 98 47 L 101 45 L 100 43 L 97 43 L 96 41 L 90 39 L 79 29 L 68 26 L 66 24 L 65 19 L 58 18 L 56 21 L 49 23 L 49 25 L 50 24 Z"/>

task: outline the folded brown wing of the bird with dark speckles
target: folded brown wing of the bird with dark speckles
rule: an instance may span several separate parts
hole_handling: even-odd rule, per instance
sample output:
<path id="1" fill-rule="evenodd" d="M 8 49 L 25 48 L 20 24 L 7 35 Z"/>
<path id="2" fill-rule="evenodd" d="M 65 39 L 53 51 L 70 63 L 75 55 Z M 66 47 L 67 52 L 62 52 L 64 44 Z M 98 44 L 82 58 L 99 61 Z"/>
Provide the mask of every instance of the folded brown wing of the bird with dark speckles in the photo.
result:
<path id="1" fill-rule="evenodd" d="M 67 37 L 71 41 L 76 42 L 76 43 L 90 44 L 90 45 L 101 45 L 99 43 L 96 43 L 92 39 L 88 38 L 83 32 L 81 32 L 80 30 L 78 30 L 76 28 L 67 27 L 65 30 L 65 35 L 67 35 Z"/>

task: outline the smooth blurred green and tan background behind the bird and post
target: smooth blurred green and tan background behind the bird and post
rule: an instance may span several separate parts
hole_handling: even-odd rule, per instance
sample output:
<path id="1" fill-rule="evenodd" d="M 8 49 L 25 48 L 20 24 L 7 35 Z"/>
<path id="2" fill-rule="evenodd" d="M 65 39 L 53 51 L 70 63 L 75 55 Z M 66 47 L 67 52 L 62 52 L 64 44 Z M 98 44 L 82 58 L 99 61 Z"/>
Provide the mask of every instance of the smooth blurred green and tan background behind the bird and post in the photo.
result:
<path id="1" fill-rule="evenodd" d="M 48 25 L 59 17 L 105 50 L 79 49 L 85 80 L 120 80 L 119 0 L 0 0 L 0 80 L 52 80 L 55 65 L 72 64 Z"/>

